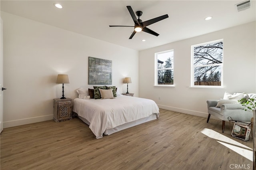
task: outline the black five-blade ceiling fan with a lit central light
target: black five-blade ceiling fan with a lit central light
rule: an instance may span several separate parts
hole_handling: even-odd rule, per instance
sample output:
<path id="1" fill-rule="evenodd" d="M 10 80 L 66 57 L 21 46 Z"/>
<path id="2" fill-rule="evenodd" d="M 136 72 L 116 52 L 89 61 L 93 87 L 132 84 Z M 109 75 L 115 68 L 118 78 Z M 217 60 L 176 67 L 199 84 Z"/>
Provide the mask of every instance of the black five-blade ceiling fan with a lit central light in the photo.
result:
<path id="1" fill-rule="evenodd" d="M 158 33 L 150 30 L 149 28 L 146 28 L 146 26 L 149 26 L 150 24 L 154 24 L 158 21 L 164 20 L 165 18 L 169 17 L 166 14 L 166 15 L 159 16 L 159 17 L 153 18 L 151 20 L 147 20 L 147 21 L 142 22 L 142 20 L 140 20 L 140 16 L 142 16 L 142 11 L 137 11 L 136 12 L 136 15 L 139 17 L 137 19 L 133 10 L 132 10 L 132 7 L 131 6 L 126 6 L 126 7 L 127 7 L 128 11 L 130 12 L 130 14 L 132 16 L 132 20 L 134 21 L 134 26 L 110 26 L 110 27 L 134 27 L 134 31 L 132 32 L 132 35 L 130 36 L 129 39 L 132 39 L 132 37 L 136 34 L 136 32 L 141 32 L 141 31 L 147 32 L 147 33 L 152 34 L 154 36 L 159 36 Z"/>

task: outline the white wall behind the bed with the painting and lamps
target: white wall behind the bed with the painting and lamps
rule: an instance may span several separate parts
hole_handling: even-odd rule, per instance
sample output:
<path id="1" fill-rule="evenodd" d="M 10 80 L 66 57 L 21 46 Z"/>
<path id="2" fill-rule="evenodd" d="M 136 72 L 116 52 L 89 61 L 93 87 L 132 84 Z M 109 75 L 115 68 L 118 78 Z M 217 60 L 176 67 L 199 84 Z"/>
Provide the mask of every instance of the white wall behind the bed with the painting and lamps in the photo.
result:
<path id="1" fill-rule="evenodd" d="M 4 128 L 53 118 L 62 97 L 59 73 L 68 74 L 65 97 L 88 85 L 88 56 L 112 60 L 112 85 L 138 96 L 138 51 L 1 12 L 4 38 Z"/>

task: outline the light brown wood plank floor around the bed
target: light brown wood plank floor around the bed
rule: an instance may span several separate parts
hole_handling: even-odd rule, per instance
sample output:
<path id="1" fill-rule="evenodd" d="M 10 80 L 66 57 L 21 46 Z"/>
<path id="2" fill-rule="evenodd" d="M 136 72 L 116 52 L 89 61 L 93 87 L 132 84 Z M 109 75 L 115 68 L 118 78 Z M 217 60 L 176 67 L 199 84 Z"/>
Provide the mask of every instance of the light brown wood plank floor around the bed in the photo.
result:
<path id="1" fill-rule="evenodd" d="M 78 118 L 4 128 L 0 135 L 0 168 L 228 170 L 240 165 L 240 169 L 252 170 L 252 161 L 218 142 L 222 139 L 201 131 L 212 129 L 221 134 L 217 136 L 224 135 L 250 148 L 252 138 L 246 142 L 233 138 L 228 122 L 223 134 L 222 121 L 210 119 L 206 123 L 206 119 L 160 109 L 158 120 L 100 139 Z"/>

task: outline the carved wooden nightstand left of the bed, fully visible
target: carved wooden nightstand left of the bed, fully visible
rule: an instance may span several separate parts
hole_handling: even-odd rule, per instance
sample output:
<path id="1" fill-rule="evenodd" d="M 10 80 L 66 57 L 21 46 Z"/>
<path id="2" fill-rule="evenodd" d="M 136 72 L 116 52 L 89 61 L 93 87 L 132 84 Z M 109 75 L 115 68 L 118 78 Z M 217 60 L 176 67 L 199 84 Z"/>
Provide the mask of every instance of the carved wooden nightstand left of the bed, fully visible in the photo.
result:
<path id="1" fill-rule="evenodd" d="M 53 99 L 54 112 L 53 119 L 55 122 L 66 121 L 72 119 L 71 102 L 72 99 Z"/>

